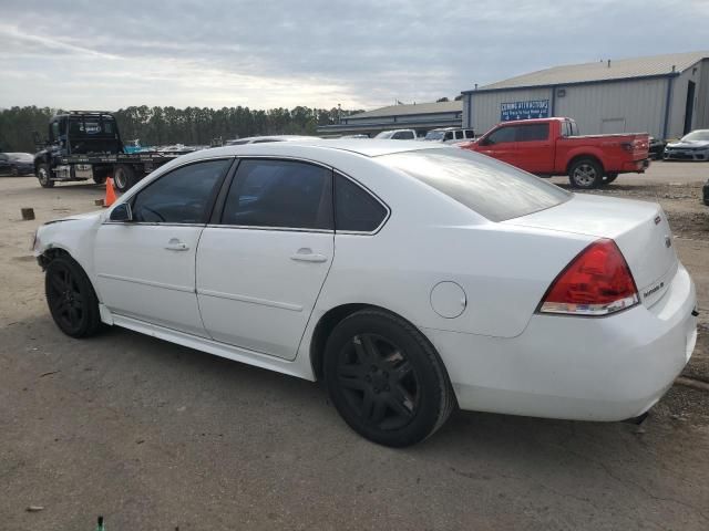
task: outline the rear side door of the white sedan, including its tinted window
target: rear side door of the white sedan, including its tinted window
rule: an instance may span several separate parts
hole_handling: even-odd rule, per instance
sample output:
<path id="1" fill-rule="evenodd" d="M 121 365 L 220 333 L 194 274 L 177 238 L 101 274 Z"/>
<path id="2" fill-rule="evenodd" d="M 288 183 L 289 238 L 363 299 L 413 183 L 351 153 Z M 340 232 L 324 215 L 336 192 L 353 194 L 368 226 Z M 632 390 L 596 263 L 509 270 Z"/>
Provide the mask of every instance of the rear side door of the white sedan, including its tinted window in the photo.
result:
<path id="1" fill-rule="evenodd" d="M 332 170 L 243 159 L 199 240 L 197 299 L 215 341 L 292 360 L 335 253 Z"/>

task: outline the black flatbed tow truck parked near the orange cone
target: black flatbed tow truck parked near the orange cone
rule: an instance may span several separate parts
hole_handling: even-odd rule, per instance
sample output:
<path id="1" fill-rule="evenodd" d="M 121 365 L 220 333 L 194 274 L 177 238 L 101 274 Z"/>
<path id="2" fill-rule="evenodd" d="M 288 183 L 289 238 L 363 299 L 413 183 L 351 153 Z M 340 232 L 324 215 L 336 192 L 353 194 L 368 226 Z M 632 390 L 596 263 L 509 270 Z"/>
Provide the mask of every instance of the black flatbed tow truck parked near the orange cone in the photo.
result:
<path id="1" fill-rule="evenodd" d="M 113 177 L 119 191 L 125 191 L 163 164 L 194 149 L 129 153 L 115 117 L 107 111 L 69 111 L 49 122 L 49 137 L 34 133 L 38 153 L 34 175 L 43 188 L 55 183 L 93 179 L 102 185 Z"/>

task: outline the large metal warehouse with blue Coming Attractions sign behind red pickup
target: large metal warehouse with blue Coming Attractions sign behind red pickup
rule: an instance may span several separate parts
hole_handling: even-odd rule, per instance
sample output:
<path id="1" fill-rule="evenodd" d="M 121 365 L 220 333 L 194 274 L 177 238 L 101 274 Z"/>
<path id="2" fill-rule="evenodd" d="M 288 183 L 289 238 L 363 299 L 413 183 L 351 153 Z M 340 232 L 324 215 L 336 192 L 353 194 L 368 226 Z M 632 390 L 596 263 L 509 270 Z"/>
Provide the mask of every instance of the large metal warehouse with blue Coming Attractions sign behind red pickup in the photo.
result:
<path id="1" fill-rule="evenodd" d="M 555 66 L 463 92 L 463 125 L 574 118 L 582 134 L 676 138 L 709 128 L 709 52 Z"/>

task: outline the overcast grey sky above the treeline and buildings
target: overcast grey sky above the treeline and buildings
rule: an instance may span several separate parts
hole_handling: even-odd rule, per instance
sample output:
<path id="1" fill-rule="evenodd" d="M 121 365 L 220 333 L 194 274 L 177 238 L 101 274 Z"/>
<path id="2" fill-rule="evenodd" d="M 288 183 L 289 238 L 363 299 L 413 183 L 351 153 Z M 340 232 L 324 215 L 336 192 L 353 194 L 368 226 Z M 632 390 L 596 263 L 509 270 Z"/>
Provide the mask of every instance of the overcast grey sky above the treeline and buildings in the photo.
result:
<path id="1" fill-rule="evenodd" d="M 0 0 L 0 107 L 372 108 L 706 49 L 709 0 Z"/>

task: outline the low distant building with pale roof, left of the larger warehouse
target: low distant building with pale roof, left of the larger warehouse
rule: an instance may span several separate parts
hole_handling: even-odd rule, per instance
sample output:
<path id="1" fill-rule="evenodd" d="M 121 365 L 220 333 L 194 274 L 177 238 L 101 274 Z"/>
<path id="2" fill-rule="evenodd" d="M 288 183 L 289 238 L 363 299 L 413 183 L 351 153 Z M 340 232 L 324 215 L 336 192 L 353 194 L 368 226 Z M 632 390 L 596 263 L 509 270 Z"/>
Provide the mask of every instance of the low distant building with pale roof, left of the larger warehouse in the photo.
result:
<path id="1" fill-rule="evenodd" d="M 318 134 L 374 136 L 387 129 L 415 129 L 418 134 L 436 127 L 460 127 L 463 102 L 399 104 L 343 116 L 339 124 L 318 127 Z"/>

